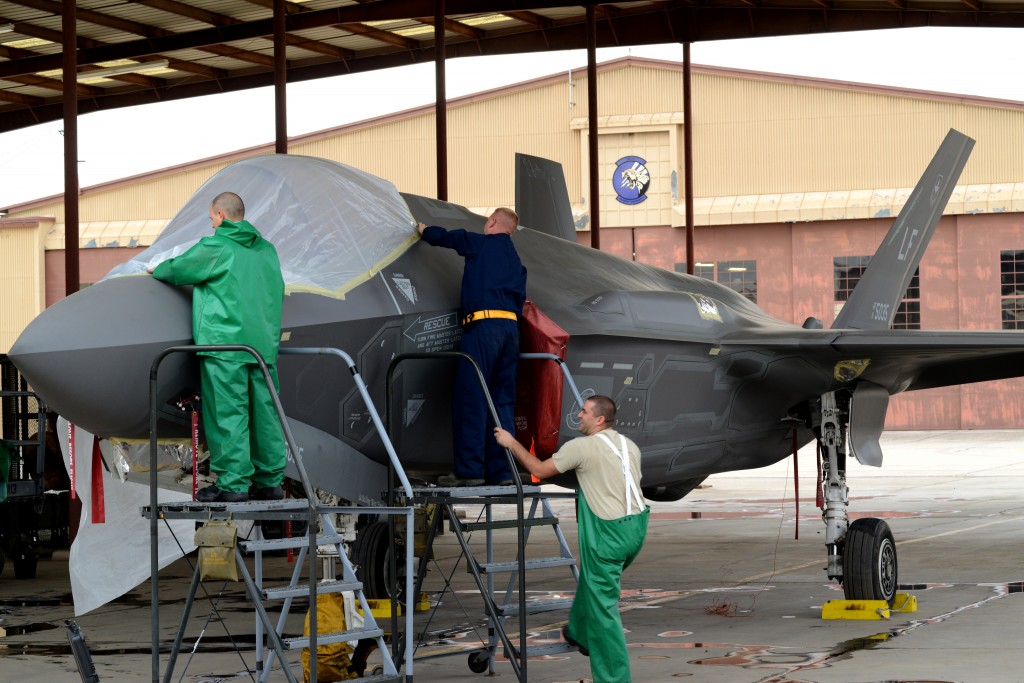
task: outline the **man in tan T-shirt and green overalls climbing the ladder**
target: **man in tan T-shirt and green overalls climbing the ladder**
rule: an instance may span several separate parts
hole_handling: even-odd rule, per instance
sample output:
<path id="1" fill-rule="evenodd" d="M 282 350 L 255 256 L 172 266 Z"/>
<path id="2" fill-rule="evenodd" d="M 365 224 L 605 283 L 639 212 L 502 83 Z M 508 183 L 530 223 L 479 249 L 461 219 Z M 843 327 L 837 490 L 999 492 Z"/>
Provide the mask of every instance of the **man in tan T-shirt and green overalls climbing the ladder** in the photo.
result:
<path id="1" fill-rule="evenodd" d="M 615 403 L 607 396 L 591 396 L 577 417 L 584 436 L 550 460 L 538 460 L 504 429 L 495 429 L 495 438 L 541 479 L 575 470 L 580 587 L 562 636 L 590 656 L 594 683 L 629 683 L 618 596 L 623 570 L 643 548 L 650 516 L 640 495 L 640 449 L 611 429 Z"/>

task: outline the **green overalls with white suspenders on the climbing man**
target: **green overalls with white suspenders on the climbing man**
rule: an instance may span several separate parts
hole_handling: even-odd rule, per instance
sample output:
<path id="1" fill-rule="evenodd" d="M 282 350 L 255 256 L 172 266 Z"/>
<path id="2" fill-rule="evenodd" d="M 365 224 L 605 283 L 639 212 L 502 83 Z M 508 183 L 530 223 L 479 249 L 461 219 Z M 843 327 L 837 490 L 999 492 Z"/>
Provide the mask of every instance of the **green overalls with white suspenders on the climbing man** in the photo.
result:
<path id="1" fill-rule="evenodd" d="M 590 671 L 594 683 L 630 683 L 630 657 L 626 635 L 618 614 L 620 581 L 643 548 L 650 509 L 643 499 L 629 468 L 625 439 L 622 453 L 603 434 L 599 436 L 623 461 L 626 477 L 627 511 L 635 499 L 642 510 L 617 519 L 602 519 L 594 514 L 580 489 L 577 524 L 580 535 L 580 586 L 569 611 L 568 632 L 573 640 L 590 650 Z"/>

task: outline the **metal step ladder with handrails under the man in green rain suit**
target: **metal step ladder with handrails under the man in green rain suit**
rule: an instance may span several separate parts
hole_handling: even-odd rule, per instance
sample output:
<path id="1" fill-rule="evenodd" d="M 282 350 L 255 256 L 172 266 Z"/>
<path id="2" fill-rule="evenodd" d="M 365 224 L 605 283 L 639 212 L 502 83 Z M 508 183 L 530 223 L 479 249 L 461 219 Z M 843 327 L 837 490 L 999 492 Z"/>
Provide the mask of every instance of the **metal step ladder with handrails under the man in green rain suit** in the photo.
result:
<path id="1" fill-rule="evenodd" d="M 165 349 L 161 352 L 157 358 L 154 360 L 153 370 L 151 372 L 151 457 L 156 462 L 156 452 L 157 452 L 157 407 L 156 407 L 156 395 L 157 395 L 157 374 L 160 362 L 169 354 L 176 352 L 195 353 L 198 351 L 210 351 L 210 350 L 238 350 L 246 351 L 251 353 L 259 362 L 261 369 L 263 370 L 264 378 L 268 386 L 272 386 L 269 372 L 266 368 L 265 362 L 259 356 L 259 354 L 249 346 L 242 345 L 227 345 L 227 346 L 177 346 Z M 355 369 L 355 364 L 351 357 L 344 351 L 331 348 L 292 348 L 292 349 L 281 349 L 282 354 L 296 354 L 296 355 L 319 355 L 319 354 L 333 354 L 341 357 L 347 365 L 352 376 L 353 381 L 356 384 L 359 393 L 361 394 L 364 401 L 367 404 L 368 412 L 373 419 L 374 426 L 377 428 L 384 441 L 385 450 L 388 453 L 390 459 L 392 471 L 394 472 L 396 478 L 403 489 L 406 501 L 404 505 L 394 505 L 387 507 L 367 507 L 367 506 L 328 506 L 319 502 L 319 500 L 314 495 L 314 489 L 309 481 L 306 474 L 305 468 L 302 465 L 302 458 L 299 450 L 296 447 L 295 439 L 291 433 L 291 429 L 288 426 L 288 422 L 285 419 L 284 411 L 281 407 L 281 402 L 276 397 L 276 393 L 272 393 L 274 398 L 274 403 L 278 409 L 278 415 L 282 422 L 282 427 L 284 430 L 285 440 L 288 443 L 289 452 L 295 459 L 296 469 L 298 470 L 299 476 L 301 478 L 303 488 L 305 489 L 306 499 L 287 499 L 281 501 L 250 501 L 245 503 L 197 503 L 197 502 L 185 502 L 185 503 L 173 503 L 173 504 L 159 504 L 157 499 L 157 468 L 151 468 L 151 504 L 142 509 L 143 516 L 147 516 L 151 519 L 151 538 L 157 539 L 156 525 L 160 519 L 174 519 L 174 518 L 188 518 L 188 519 L 251 519 L 255 522 L 254 527 L 257 529 L 257 536 L 252 541 L 241 541 L 236 548 L 236 563 L 239 568 L 239 575 L 245 584 L 245 590 L 249 598 L 252 600 L 253 605 L 256 610 L 256 652 L 257 652 L 257 670 L 259 672 L 259 680 L 261 683 L 267 680 L 269 673 L 271 671 L 271 666 L 276 658 L 286 679 L 290 683 L 296 683 L 296 678 L 291 671 L 291 667 L 288 664 L 285 653 L 289 649 L 297 648 L 308 648 L 310 651 L 309 657 L 309 677 L 310 680 L 316 680 L 316 651 L 319 645 L 338 643 L 343 641 L 353 641 L 353 640 L 367 640 L 371 639 L 376 641 L 377 647 L 381 652 L 383 657 L 383 675 L 369 676 L 356 679 L 348 679 L 352 681 L 366 681 L 367 683 L 383 683 L 387 681 L 401 681 L 403 679 L 412 680 L 413 676 L 413 663 L 412 655 L 406 657 L 406 674 L 398 674 L 398 666 L 396 661 L 401 660 L 400 656 L 392 656 L 389 652 L 387 643 L 385 642 L 384 630 L 381 629 L 373 615 L 373 610 L 367 602 L 366 596 L 362 591 L 362 584 L 355 577 L 355 570 L 352 567 L 351 562 L 345 553 L 343 547 L 343 539 L 341 535 L 338 533 L 334 526 L 334 521 L 332 519 L 333 515 L 337 513 L 346 514 L 376 514 L 376 515 L 392 515 L 392 516 L 404 516 L 406 517 L 406 529 L 409 538 L 413 536 L 413 517 L 414 510 L 411 504 L 408 502 L 412 499 L 412 485 L 409 482 L 404 470 L 401 468 L 398 462 L 397 455 L 391 444 L 390 439 L 387 436 L 387 432 L 384 429 L 383 423 L 370 398 L 369 391 L 362 379 L 359 377 L 358 372 Z M 393 500 L 393 497 L 392 497 Z M 154 514 L 152 511 L 156 511 Z M 261 526 L 259 522 L 265 520 L 293 520 L 293 521 L 306 521 L 306 533 L 301 537 L 296 537 L 294 539 L 274 539 L 267 540 L 262 538 Z M 318 527 L 318 528 L 317 528 Z M 334 546 L 337 557 L 341 562 L 341 579 L 327 579 L 324 581 L 317 580 L 316 570 L 316 560 L 317 560 L 317 548 L 321 546 Z M 292 572 L 291 580 L 288 585 L 282 587 L 263 587 L 263 554 L 271 551 L 279 550 L 298 550 L 299 556 L 295 563 L 295 568 Z M 158 616 L 158 605 L 159 605 L 159 565 L 158 565 L 158 552 L 156 548 L 156 542 L 151 543 L 152 552 L 152 567 L 151 567 L 151 582 L 153 587 L 153 681 L 156 683 L 159 680 L 160 674 L 160 646 L 159 646 L 159 616 Z M 255 578 L 250 573 L 245 559 L 243 557 L 244 552 L 253 552 L 255 555 Z M 409 544 L 409 548 L 406 553 L 406 567 L 407 567 L 407 591 L 406 595 L 414 595 L 412 592 L 412 580 L 413 580 L 413 548 L 412 544 Z M 305 563 L 307 568 L 306 574 L 308 581 L 305 584 L 301 584 L 302 580 L 302 567 Z M 169 683 L 171 676 L 174 671 L 174 663 L 177 657 L 177 653 L 181 648 L 181 641 L 184 635 L 185 625 L 188 620 L 188 614 L 191 609 L 191 605 L 195 601 L 195 596 L 200 583 L 200 570 L 197 564 L 196 570 L 193 575 L 191 586 L 189 588 L 188 597 L 186 599 L 185 607 L 181 617 L 181 623 L 178 629 L 177 636 L 175 638 L 174 647 L 171 649 L 171 654 L 168 663 L 168 668 L 166 670 L 166 676 L 164 678 L 166 683 Z M 317 632 L 317 618 L 316 618 L 316 597 L 329 593 L 338 593 L 344 591 L 352 591 L 354 597 L 362 610 L 364 625 L 361 628 L 357 629 L 347 629 L 345 631 L 332 632 L 332 633 L 318 633 Z M 309 603 L 309 636 L 301 638 L 283 638 L 282 634 L 284 632 L 285 623 L 288 618 L 289 612 L 291 610 L 292 601 L 296 597 L 308 596 Z M 270 617 L 266 611 L 263 604 L 266 600 L 281 600 L 283 601 L 282 613 L 278 620 L 276 624 L 272 624 Z M 396 599 L 392 600 L 392 613 L 396 612 L 397 605 Z M 402 633 L 398 634 L 395 632 L 394 637 L 398 638 L 399 635 L 403 639 L 402 642 L 411 641 L 412 639 L 412 605 L 404 605 L 407 622 Z M 270 650 L 263 653 L 263 634 L 266 635 L 267 640 L 270 643 Z M 396 647 L 397 651 L 410 651 L 409 648 L 402 648 L 401 646 Z"/>

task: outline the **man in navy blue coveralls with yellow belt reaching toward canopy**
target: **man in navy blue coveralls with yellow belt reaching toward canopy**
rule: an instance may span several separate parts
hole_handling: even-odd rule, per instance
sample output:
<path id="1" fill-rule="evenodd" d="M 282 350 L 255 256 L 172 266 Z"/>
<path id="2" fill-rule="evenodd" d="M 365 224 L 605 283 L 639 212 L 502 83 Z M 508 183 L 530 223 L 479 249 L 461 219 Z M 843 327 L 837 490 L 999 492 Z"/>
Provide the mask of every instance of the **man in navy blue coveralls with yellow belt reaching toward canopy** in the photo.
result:
<path id="1" fill-rule="evenodd" d="M 526 269 L 519 260 L 512 233 L 519 216 L 511 209 L 495 210 L 483 234 L 417 225 L 423 240 L 454 249 L 465 261 L 462 273 L 462 342 L 459 349 L 480 367 L 498 411 L 500 427 L 514 431 L 515 378 L 519 361 L 519 316 L 526 300 Z M 455 471 L 440 477 L 442 486 L 512 483 L 505 450 L 490 438 L 494 425 L 473 368 L 464 361 L 456 370 L 452 401 Z"/>

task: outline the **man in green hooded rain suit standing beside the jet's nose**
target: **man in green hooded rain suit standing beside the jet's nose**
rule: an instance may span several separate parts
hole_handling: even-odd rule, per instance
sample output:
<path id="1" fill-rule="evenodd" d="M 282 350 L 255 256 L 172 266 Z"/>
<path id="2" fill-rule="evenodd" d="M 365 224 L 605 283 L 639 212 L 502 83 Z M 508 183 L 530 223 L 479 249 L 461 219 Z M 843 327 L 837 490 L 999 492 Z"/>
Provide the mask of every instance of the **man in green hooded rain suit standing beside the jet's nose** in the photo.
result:
<path id="1" fill-rule="evenodd" d="M 193 285 L 193 338 L 199 345 L 256 349 L 278 383 L 285 281 L 278 252 L 245 218 L 234 193 L 210 205 L 214 233 L 151 270 L 171 285 Z M 259 364 L 245 351 L 200 353 L 203 427 L 217 482 L 204 503 L 284 498 L 285 439 Z"/>

